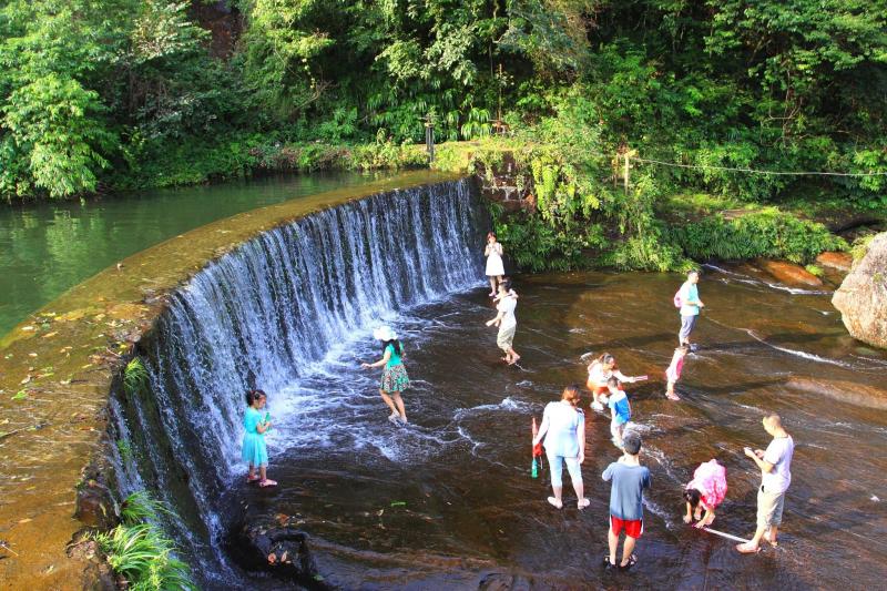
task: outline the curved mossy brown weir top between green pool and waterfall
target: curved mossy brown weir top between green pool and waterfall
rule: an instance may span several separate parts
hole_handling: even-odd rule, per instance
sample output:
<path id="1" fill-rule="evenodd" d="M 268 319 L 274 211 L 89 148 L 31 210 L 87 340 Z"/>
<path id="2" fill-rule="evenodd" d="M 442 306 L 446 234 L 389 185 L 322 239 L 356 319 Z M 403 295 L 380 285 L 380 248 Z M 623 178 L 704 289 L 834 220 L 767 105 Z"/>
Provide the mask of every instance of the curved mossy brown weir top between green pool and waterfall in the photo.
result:
<path id="1" fill-rule="evenodd" d="M 255 210 L 182 234 L 81 283 L 0 342 L 0 588 L 90 585 L 90 560 L 68 547 L 101 527 L 113 493 L 108 404 L 167 297 L 211 262 L 312 213 L 456 175 L 412 172 L 359 190 Z"/>

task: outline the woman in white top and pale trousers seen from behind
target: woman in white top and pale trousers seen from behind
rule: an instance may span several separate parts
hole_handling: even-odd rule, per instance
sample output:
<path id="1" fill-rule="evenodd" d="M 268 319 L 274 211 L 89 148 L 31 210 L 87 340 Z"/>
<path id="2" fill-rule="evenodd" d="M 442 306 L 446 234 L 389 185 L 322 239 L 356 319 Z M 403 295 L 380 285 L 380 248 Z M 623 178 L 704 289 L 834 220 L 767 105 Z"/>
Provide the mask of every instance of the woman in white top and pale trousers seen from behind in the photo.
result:
<path id="1" fill-rule="evenodd" d="M 563 463 L 573 481 L 573 490 L 578 499 L 577 507 L 582 510 L 591 501 L 585 498 L 582 485 L 581 465 L 585 461 L 585 414 L 579 407 L 579 386 L 567 386 L 559 403 L 549 403 L 542 415 L 542 425 L 533 438 L 533 447 L 546 438 L 546 456 L 551 467 L 551 490 L 553 497 L 548 502 L 561 509 L 563 507 Z"/>

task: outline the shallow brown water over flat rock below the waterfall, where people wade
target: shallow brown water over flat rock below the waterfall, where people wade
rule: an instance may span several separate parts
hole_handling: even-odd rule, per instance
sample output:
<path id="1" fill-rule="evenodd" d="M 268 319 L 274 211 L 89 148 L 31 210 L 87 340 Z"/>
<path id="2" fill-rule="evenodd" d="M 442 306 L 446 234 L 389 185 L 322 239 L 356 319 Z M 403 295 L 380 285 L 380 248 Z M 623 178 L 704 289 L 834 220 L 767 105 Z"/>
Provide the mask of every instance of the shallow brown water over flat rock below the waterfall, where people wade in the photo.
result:
<path id="1" fill-rule="evenodd" d="M 669 401 L 661 376 L 679 285 L 654 274 L 520 278 L 519 367 L 499 360 L 485 289 L 414 309 L 397 325 L 415 386 L 411 426 L 386 420 L 378 373 L 358 369 L 379 356 L 376 344 L 345 343 L 313 376 L 271 395 L 269 472 L 281 486 L 234 489 L 253 509 L 299 516 L 327 582 L 349 589 L 883 587 L 887 355 L 847 336 L 827 294 L 708 268 L 694 333 L 702 347 L 685 361 L 683 400 Z M 565 508 L 551 508 L 547 467 L 529 475 L 531 417 L 564 385 L 584 383 L 583 359 L 603 351 L 626 375 L 651 378 L 626 387 L 653 477 L 640 562 L 612 575 L 601 568 L 609 485 L 600 473 L 620 455 L 609 419 L 587 410 L 587 510 L 575 509 L 569 482 Z M 759 472 L 742 448 L 766 447 L 761 419 L 771 411 L 797 446 L 781 547 L 743 557 L 734 542 L 685 527 L 680 495 L 700 462 L 717 458 L 730 491 L 714 527 L 750 537 Z"/>

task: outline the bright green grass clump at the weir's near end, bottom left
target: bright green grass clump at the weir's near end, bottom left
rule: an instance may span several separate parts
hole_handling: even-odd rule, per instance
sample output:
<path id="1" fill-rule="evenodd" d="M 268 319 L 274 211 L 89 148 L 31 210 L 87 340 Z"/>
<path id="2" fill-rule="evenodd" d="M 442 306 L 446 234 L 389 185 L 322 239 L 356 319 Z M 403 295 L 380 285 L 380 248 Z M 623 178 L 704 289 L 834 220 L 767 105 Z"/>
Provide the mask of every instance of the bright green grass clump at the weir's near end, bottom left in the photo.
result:
<path id="1" fill-rule="evenodd" d="M 157 517 L 174 517 L 172 510 L 147 492 L 135 492 L 123 501 L 122 522 L 95 541 L 128 589 L 137 591 L 195 590 L 191 569 L 175 558 L 175 543 L 157 524 Z"/>

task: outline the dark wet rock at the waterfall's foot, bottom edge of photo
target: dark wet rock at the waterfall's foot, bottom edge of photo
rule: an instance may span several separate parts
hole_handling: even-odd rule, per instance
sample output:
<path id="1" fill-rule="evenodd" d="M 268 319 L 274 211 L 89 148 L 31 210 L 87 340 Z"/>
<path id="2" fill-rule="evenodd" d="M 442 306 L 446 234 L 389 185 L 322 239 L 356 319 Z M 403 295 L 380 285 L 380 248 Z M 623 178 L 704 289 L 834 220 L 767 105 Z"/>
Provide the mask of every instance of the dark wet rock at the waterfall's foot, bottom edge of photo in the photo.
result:
<path id="1" fill-rule="evenodd" d="M 285 514 L 245 517 L 231 536 L 232 557 L 246 570 L 323 587 L 308 549 L 308 534 L 292 524 L 294 521 Z"/>

